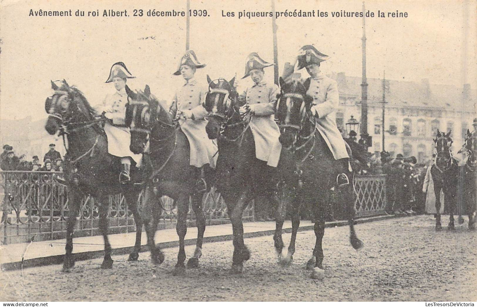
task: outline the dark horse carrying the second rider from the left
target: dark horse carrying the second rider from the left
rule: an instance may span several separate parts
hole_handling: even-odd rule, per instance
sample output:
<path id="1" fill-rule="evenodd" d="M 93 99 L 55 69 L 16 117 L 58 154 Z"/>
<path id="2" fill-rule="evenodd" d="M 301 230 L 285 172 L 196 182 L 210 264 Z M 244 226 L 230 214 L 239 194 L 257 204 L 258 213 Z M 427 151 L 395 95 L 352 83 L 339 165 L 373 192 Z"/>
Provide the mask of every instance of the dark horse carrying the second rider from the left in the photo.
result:
<path id="1" fill-rule="evenodd" d="M 144 153 L 149 142 L 149 156 L 153 165 L 153 174 L 145 187 L 144 208 L 141 218 L 147 234 L 147 244 L 151 250 L 151 259 L 156 264 L 164 261 L 164 254 L 156 246 L 154 235 L 161 214 L 159 198 L 172 197 L 177 204 L 176 231 L 179 235 L 179 253 L 174 274 L 184 273 L 186 252 L 184 238 L 187 233 L 187 212 L 189 197 L 196 215 L 197 243 L 194 256 L 187 261 L 188 267 L 197 267 L 202 255 L 202 241 L 206 221 L 202 210 L 204 190 L 197 187 L 197 174 L 189 165 L 189 141 L 182 130 L 176 127 L 167 111 L 151 94 L 149 86 L 137 93 L 126 86 L 128 105 L 126 107 L 126 125 L 131 131 L 131 151 Z"/>

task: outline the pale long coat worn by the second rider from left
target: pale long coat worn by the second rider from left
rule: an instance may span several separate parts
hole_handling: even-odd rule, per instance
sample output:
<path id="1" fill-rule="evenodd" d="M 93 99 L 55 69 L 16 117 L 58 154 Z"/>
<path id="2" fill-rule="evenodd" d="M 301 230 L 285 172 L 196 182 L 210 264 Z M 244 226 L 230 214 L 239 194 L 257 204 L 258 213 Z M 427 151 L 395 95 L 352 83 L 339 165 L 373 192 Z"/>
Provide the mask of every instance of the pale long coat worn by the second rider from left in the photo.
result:
<path id="1" fill-rule="evenodd" d="M 217 162 L 217 145 L 208 138 L 206 132 L 206 109 L 202 106 L 205 101 L 205 90 L 197 84 L 195 78 L 190 79 L 177 89 L 172 98 L 170 113 L 175 116 L 177 110 L 189 110 L 194 114 L 194 120 L 179 120 L 180 128 L 187 136 L 190 144 L 190 165 L 202 167 L 210 164 L 215 168 Z"/>

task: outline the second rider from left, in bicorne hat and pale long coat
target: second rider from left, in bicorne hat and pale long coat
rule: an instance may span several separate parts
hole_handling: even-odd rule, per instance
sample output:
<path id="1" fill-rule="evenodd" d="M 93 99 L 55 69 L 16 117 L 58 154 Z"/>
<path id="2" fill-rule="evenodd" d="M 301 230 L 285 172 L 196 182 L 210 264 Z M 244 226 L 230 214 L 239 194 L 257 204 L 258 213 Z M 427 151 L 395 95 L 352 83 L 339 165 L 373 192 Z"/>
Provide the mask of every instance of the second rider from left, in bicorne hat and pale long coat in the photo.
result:
<path id="1" fill-rule="evenodd" d="M 197 184 L 202 186 L 206 174 L 211 174 L 209 167 L 215 168 L 218 150 L 206 132 L 207 111 L 203 107 L 206 90 L 194 77 L 197 69 L 205 66 L 206 64 L 198 61 L 193 50 L 186 51 L 173 73 L 175 76 L 182 76 L 185 83 L 176 90 L 169 108 L 170 117 L 179 119 L 180 129 L 189 141 L 192 176 L 195 176 L 198 179 Z M 198 188 L 202 189 L 201 186 Z"/>

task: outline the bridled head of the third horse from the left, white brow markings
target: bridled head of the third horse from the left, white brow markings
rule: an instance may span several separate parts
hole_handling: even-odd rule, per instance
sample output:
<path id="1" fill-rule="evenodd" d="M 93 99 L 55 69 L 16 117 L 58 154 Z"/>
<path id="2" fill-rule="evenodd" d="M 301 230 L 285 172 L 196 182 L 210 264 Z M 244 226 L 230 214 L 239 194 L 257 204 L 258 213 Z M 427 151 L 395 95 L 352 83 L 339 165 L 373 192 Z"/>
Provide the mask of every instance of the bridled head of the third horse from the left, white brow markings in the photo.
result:
<path id="1" fill-rule="evenodd" d="M 240 121 L 237 98 L 233 87 L 235 77 L 227 81 L 224 78 L 211 80 L 207 75 L 208 91 L 204 108 L 208 112 L 206 132 L 209 139 L 217 139 L 231 121 Z"/>

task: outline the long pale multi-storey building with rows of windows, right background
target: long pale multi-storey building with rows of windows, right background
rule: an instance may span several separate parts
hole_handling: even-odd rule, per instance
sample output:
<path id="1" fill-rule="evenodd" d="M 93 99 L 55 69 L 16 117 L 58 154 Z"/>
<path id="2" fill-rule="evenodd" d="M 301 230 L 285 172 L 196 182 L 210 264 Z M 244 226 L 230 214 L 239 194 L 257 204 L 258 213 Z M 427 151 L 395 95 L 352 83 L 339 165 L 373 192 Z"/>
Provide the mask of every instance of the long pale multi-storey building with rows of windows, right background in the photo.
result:
<path id="1" fill-rule="evenodd" d="M 342 131 L 354 116 L 361 122 L 361 78 L 349 77 L 340 72 L 330 75 L 338 82 L 340 92 L 336 123 Z M 373 137 L 370 152 L 384 150 L 393 156 L 402 153 L 405 157 L 415 156 L 419 163 L 432 158 L 437 130 L 449 132 L 454 143 L 453 153 L 464 143 L 467 129 L 472 131 L 476 117 L 475 92 L 470 85 L 463 88 L 452 85 L 422 82 L 385 82 L 385 104 L 383 124 L 383 80 L 368 78 L 368 133 Z"/>

